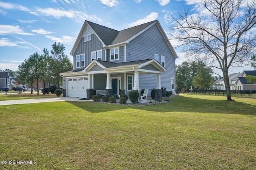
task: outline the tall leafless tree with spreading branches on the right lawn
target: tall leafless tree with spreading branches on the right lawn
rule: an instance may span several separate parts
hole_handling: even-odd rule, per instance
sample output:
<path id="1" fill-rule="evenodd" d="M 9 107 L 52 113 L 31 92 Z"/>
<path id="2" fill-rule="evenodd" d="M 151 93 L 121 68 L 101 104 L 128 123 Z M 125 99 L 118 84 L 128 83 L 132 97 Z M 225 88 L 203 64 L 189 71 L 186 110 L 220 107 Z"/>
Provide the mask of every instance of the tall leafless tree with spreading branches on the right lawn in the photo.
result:
<path id="1" fill-rule="evenodd" d="M 200 11 L 200 12 L 199 12 Z M 193 9 L 170 14 L 171 39 L 180 42 L 186 56 L 220 69 L 231 99 L 228 70 L 250 63 L 256 51 L 255 0 L 203 0 Z"/>

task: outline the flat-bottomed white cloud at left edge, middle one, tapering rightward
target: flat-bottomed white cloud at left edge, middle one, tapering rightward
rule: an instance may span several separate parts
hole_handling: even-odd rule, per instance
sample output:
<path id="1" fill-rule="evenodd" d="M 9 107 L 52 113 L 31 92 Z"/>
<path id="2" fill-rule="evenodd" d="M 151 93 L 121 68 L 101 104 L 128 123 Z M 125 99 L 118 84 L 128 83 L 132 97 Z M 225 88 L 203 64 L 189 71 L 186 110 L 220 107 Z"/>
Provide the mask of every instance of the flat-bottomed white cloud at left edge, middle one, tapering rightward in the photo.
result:
<path id="1" fill-rule="evenodd" d="M 24 32 L 19 26 L 0 25 L 0 35 L 19 34 L 19 35 L 34 35 Z"/>

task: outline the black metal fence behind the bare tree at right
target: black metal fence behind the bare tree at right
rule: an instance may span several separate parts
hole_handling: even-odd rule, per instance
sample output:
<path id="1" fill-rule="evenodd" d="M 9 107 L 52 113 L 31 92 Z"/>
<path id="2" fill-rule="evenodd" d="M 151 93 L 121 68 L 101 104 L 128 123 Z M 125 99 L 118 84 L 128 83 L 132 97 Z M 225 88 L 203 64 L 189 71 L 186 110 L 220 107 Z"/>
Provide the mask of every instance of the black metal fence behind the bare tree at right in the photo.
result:
<path id="1" fill-rule="evenodd" d="M 187 94 L 200 94 L 212 96 L 226 96 L 226 90 L 186 90 Z M 231 97 L 236 98 L 256 98 L 256 90 L 231 90 Z"/>

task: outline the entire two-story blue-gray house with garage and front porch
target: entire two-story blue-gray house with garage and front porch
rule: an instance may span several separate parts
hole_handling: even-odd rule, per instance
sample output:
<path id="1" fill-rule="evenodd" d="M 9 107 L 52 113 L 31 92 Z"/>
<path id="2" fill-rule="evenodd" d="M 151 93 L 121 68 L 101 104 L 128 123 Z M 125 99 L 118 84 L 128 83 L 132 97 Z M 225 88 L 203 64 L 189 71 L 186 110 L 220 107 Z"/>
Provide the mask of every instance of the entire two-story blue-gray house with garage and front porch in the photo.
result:
<path id="1" fill-rule="evenodd" d="M 117 31 L 85 21 L 70 55 L 74 69 L 61 73 L 63 95 L 91 99 L 95 90 L 128 94 L 162 89 L 175 94 L 177 55 L 158 20 Z"/>

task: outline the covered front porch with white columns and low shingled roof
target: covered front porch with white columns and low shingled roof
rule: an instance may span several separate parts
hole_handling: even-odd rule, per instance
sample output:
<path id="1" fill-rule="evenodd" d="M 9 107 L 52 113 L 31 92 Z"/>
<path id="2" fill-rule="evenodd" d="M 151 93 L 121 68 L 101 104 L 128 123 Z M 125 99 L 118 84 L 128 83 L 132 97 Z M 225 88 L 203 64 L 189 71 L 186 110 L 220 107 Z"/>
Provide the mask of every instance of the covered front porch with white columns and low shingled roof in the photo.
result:
<path id="1" fill-rule="evenodd" d="M 161 74 L 166 71 L 154 59 L 132 61 L 126 63 L 111 63 L 92 61 L 84 70 L 88 74 L 87 99 L 92 99 L 96 90 L 104 90 L 105 94 L 128 95 L 131 90 L 145 88 L 155 89 L 155 100 L 162 99 Z M 148 94 L 150 96 L 150 92 Z"/>

